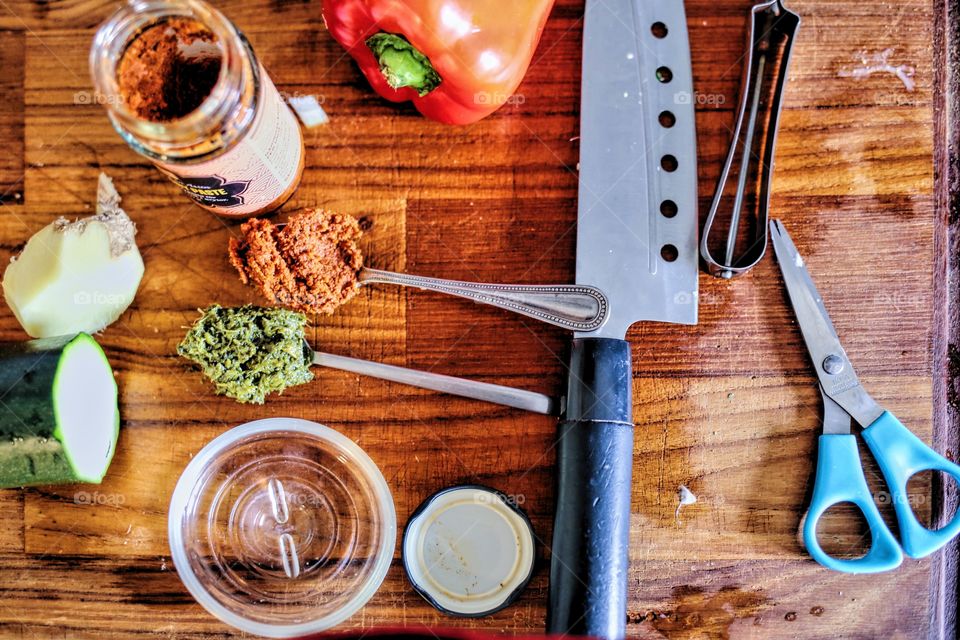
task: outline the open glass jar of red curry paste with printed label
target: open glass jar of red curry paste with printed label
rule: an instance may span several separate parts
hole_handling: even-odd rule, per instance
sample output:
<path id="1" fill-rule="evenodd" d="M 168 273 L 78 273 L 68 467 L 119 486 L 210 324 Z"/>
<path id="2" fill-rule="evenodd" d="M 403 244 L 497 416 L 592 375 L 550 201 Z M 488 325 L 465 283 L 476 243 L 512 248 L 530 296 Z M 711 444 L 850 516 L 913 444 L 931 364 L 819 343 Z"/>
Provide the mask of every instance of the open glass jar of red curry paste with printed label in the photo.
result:
<path id="1" fill-rule="evenodd" d="M 141 38 L 153 40 L 138 45 Z M 162 64 L 150 58 L 160 55 L 158 42 L 170 52 Z M 199 60 L 200 49 L 211 63 L 207 85 L 185 61 Z M 293 195 L 305 155 L 300 125 L 250 43 L 210 5 L 131 0 L 98 29 L 90 69 L 120 136 L 200 206 L 248 217 Z"/>

